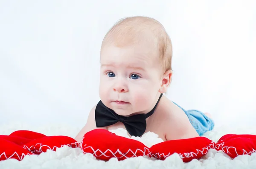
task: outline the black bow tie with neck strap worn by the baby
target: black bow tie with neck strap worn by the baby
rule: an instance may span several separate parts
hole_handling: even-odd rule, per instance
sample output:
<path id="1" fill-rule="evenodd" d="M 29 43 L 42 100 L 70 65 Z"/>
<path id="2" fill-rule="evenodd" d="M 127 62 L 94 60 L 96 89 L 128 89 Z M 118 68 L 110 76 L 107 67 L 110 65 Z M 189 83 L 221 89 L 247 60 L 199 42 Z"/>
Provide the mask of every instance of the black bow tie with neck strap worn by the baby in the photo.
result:
<path id="1" fill-rule="evenodd" d="M 163 94 L 161 93 L 157 101 L 157 104 L 160 101 L 160 98 L 162 97 L 162 95 Z M 116 112 L 114 112 L 112 109 L 106 107 L 102 103 L 102 101 L 99 101 L 95 109 L 96 127 L 111 126 L 113 124 L 116 124 L 118 121 L 120 121 L 125 125 L 125 128 L 130 135 L 140 137 L 141 135 L 143 135 L 147 127 L 146 118 L 148 118 L 150 115 L 154 113 L 154 110 L 156 109 L 157 104 L 147 114 L 137 114 L 137 115 L 125 117 L 125 116 L 116 114 Z"/>

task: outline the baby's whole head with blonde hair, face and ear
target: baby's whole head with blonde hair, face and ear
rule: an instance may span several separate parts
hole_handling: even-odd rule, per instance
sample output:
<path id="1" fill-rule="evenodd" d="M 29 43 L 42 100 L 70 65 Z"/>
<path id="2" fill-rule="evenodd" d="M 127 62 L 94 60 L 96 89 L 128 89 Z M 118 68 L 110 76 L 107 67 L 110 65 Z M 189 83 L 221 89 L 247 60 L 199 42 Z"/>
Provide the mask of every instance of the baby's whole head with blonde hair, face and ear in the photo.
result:
<path id="1" fill-rule="evenodd" d="M 100 61 L 99 96 L 119 115 L 148 113 L 171 82 L 171 40 L 152 18 L 116 23 L 103 39 Z"/>

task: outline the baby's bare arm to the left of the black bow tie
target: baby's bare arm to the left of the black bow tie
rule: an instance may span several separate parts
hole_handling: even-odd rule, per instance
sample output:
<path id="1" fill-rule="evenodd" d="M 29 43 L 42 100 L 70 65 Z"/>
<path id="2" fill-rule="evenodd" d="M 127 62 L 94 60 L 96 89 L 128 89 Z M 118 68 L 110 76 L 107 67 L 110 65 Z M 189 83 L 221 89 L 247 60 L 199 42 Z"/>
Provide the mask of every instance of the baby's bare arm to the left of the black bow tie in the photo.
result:
<path id="1" fill-rule="evenodd" d="M 85 133 L 97 128 L 96 122 L 95 122 L 95 108 L 96 108 L 96 106 L 94 106 L 92 108 L 92 110 L 90 110 L 90 113 L 89 113 L 88 119 L 87 119 L 87 123 L 81 129 L 81 131 L 78 133 L 78 135 L 76 135 L 75 140 L 78 141 L 79 143 L 81 143 Z"/>

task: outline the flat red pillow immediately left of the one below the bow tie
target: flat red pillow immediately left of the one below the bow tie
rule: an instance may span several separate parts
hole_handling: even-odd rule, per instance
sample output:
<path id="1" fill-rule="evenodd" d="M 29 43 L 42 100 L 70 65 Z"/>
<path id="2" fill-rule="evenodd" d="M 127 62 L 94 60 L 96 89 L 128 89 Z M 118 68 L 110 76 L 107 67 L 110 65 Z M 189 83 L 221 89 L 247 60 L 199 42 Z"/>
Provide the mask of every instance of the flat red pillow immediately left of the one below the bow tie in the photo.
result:
<path id="1" fill-rule="evenodd" d="M 25 144 L 23 147 L 30 152 L 40 154 L 41 152 L 46 152 L 47 149 L 56 151 L 56 148 L 61 148 L 65 145 L 72 148 L 80 147 L 80 144 L 75 139 L 61 135 L 38 138 Z"/>

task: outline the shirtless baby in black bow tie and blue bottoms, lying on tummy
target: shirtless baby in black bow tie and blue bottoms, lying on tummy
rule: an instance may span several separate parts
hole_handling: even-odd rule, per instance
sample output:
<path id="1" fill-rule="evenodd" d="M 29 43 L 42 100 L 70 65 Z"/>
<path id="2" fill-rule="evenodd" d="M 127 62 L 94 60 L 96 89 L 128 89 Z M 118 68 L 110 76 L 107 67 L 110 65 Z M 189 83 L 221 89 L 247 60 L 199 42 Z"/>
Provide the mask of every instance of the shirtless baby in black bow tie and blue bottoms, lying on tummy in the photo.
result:
<path id="1" fill-rule="evenodd" d="M 154 132 L 163 141 L 198 137 L 214 122 L 198 110 L 183 110 L 166 93 L 172 80 L 172 43 L 163 25 L 128 17 L 105 35 L 100 52 L 101 101 L 76 136 L 96 128 L 126 129 L 129 136 Z"/>

